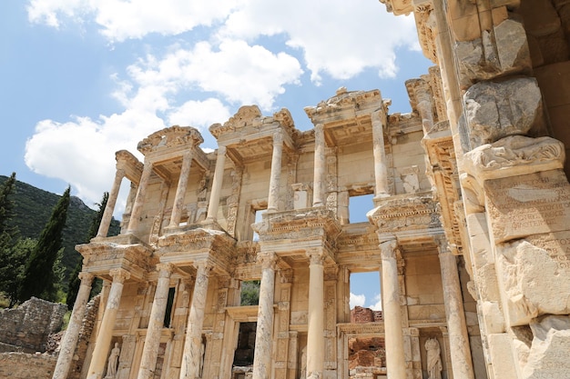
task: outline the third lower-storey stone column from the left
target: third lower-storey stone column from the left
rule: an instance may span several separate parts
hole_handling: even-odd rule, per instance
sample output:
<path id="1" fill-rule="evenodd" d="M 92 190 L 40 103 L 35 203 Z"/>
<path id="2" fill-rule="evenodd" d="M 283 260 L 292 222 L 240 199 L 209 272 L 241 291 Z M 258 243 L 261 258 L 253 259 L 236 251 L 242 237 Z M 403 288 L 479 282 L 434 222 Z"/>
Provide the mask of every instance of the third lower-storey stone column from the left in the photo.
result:
<path id="1" fill-rule="evenodd" d="M 155 374 L 158 357 L 160 334 L 164 327 L 164 315 L 167 310 L 168 289 L 170 288 L 170 274 L 174 270 L 173 264 L 157 264 L 158 283 L 155 298 L 150 310 L 145 347 L 138 369 L 138 379 L 152 379 Z"/>

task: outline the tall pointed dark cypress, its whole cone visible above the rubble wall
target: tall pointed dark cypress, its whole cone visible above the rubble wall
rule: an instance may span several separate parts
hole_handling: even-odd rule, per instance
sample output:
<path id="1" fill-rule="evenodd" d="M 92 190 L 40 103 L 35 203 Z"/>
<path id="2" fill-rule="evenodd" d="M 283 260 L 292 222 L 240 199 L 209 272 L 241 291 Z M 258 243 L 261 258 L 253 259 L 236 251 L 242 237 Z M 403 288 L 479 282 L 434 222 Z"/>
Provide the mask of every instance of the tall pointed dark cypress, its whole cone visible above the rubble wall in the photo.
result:
<path id="1" fill-rule="evenodd" d="M 57 301 L 59 284 L 63 276 L 60 266 L 63 254 L 63 230 L 66 225 L 67 208 L 69 207 L 69 191 L 61 196 L 49 221 L 42 230 L 37 244 L 25 263 L 20 300 L 36 296 L 49 301 Z"/>

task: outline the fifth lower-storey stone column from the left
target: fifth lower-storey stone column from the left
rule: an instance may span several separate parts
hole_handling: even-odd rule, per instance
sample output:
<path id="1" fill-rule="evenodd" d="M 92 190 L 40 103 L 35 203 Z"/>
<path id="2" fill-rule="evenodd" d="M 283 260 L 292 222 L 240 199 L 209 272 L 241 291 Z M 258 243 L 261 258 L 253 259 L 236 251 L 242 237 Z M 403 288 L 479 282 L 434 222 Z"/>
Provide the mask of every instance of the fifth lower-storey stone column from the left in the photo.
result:
<path id="1" fill-rule="evenodd" d="M 255 332 L 255 355 L 253 357 L 253 379 L 267 379 L 271 376 L 271 334 L 273 334 L 273 293 L 275 290 L 275 253 L 261 253 L 258 256 L 261 271 L 260 305 L 258 325 Z"/>

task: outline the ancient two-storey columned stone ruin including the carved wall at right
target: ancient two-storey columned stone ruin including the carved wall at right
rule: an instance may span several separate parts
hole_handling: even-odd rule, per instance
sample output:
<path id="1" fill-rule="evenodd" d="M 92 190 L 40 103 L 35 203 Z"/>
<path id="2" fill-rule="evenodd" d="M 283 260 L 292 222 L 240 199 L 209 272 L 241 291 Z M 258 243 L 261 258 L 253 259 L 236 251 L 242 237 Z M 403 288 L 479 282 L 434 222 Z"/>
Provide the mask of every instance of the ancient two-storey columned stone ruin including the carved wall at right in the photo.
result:
<path id="1" fill-rule="evenodd" d="M 54 379 L 570 377 L 570 2 L 381 3 L 434 64 L 405 83 L 411 113 L 341 88 L 308 131 L 250 105 L 209 127 L 215 152 L 178 125 L 143 162 L 117 152 Z M 361 322 L 351 275 L 374 271 L 382 313 Z"/>

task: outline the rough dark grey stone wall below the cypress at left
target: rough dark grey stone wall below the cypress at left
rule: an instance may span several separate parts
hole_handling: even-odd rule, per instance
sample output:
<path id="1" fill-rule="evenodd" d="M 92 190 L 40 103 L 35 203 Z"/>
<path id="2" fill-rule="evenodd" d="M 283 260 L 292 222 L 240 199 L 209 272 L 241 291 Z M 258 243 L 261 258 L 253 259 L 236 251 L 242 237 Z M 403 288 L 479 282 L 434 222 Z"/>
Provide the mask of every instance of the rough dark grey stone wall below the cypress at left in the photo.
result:
<path id="1" fill-rule="evenodd" d="M 0 312 L 0 342 L 22 347 L 27 353 L 43 352 L 47 336 L 59 331 L 67 307 L 32 297 L 15 309 Z"/>

